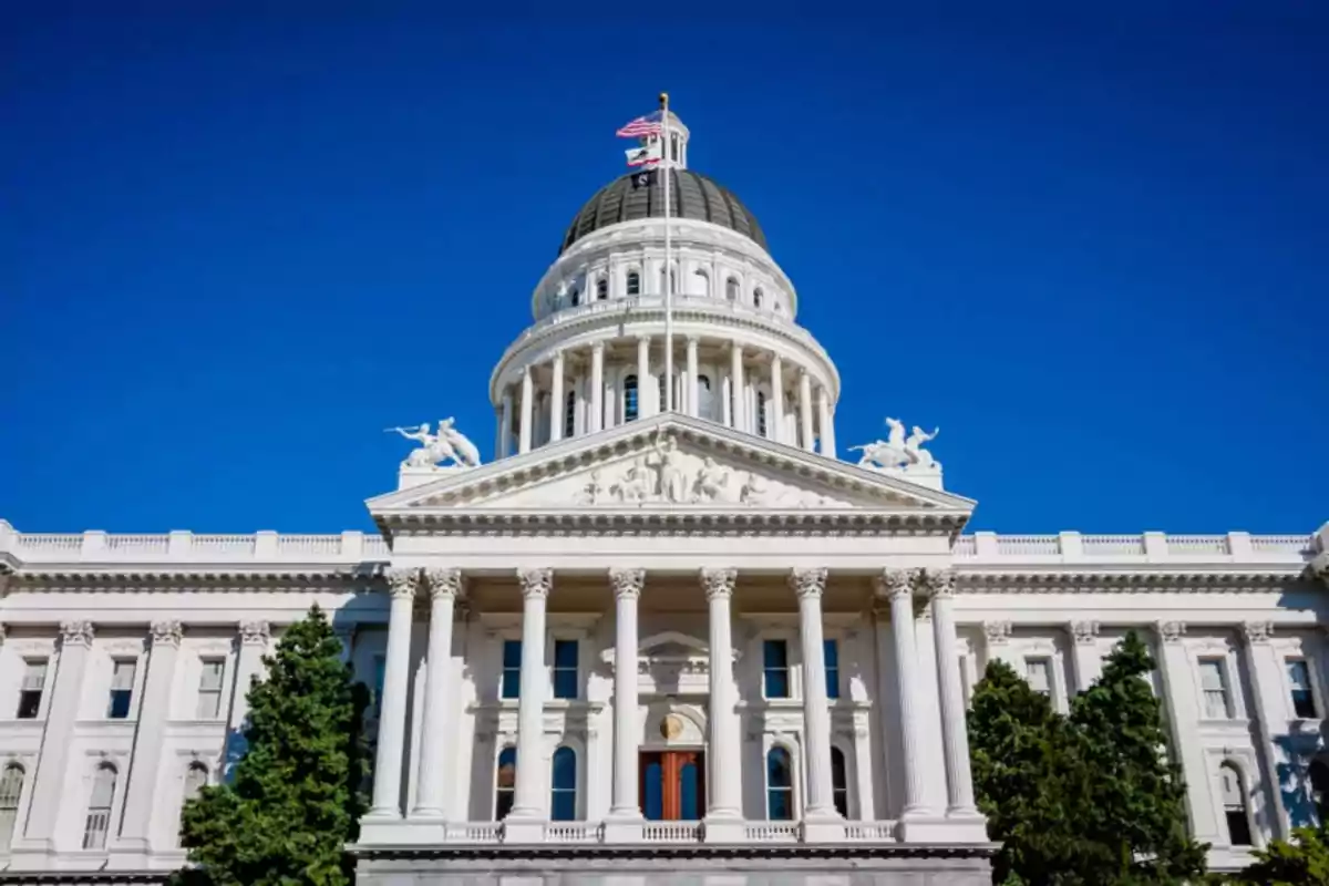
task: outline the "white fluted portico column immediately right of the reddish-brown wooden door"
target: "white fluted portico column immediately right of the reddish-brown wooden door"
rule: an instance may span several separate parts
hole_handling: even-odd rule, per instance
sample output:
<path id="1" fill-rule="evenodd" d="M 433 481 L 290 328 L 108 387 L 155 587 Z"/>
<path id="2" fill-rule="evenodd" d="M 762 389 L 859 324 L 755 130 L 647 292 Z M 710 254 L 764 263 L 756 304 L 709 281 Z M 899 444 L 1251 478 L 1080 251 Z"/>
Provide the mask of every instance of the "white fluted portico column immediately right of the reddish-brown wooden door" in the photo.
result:
<path id="1" fill-rule="evenodd" d="M 734 687 L 734 632 L 730 600 L 734 596 L 732 569 L 703 569 L 702 587 L 711 610 L 710 636 L 710 727 L 711 796 L 706 810 L 706 842 L 743 842 L 743 753 Z"/>

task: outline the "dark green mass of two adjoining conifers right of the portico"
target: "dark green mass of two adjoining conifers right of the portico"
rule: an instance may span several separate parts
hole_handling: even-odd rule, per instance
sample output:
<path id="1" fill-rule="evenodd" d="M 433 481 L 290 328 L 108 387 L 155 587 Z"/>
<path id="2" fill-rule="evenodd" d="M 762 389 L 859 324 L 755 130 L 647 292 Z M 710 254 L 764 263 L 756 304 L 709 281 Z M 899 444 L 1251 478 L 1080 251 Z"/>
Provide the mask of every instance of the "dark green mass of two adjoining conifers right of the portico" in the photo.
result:
<path id="1" fill-rule="evenodd" d="M 1192 882 L 1207 846 L 1185 829 L 1185 785 L 1167 757 L 1154 660 L 1132 632 L 1069 715 L 1003 663 L 974 691 L 974 788 L 1002 842 L 994 882 L 1135 886 Z"/>

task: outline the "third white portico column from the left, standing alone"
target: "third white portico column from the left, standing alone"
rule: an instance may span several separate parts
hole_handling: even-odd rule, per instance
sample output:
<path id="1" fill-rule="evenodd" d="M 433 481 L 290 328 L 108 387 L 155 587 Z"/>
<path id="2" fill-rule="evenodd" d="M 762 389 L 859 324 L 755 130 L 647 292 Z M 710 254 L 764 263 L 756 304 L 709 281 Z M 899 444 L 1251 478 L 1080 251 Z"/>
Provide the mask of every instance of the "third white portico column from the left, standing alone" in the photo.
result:
<path id="1" fill-rule="evenodd" d="M 521 582 L 521 683 L 517 691 L 517 789 L 508 814 L 505 840 L 544 840 L 546 818 L 541 797 L 545 732 L 545 602 L 554 583 L 549 569 L 518 569 Z M 516 821 L 514 821 L 516 820 Z M 534 822 L 533 826 L 522 824 Z"/>

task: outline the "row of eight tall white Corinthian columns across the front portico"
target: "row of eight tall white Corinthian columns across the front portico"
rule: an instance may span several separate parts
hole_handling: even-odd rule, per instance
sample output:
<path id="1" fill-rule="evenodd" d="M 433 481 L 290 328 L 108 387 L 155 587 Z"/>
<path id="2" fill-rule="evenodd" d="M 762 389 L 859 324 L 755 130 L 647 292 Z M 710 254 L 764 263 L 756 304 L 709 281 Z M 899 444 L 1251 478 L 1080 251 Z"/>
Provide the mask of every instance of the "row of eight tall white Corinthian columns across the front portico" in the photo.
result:
<path id="1" fill-rule="evenodd" d="M 521 584 L 521 692 L 517 701 L 517 774 L 512 812 L 505 820 L 508 840 L 521 841 L 524 828 L 530 840 L 541 840 L 545 802 L 540 766 L 521 765 L 524 760 L 541 758 L 542 717 L 548 699 L 545 677 L 546 603 L 554 586 L 550 569 L 518 569 Z M 706 594 L 710 618 L 710 716 L 707 753 L 712 760 L 712 784 L 707 794 L 706 840 L 742 840 L 742 744 L 738 721 L 731 716 L 739 699 L 734 677 L 731 600 L 738 573 L 732 569 L 703 569 L 698 580 Z M 614 780 L 611 806 L 605 821 L 605 840 L 639 841 L 642 809 L 638 796 L 638 602 L 647 584 L 641 569 L 611 569 L 607 575 L 614 591 Z M 425 588 L 431 599 L 428 662 L 421 729 L 420 788 L 411 818 L 441 820 L 445 785 L 445 751 L 451 724 L 447 717 L 447 663 L 451 659 L 453 606 L 462 590 L 459 570 L 395 569 L 388 573 L 392 606 L 388 622 L 388 647 L 383 681 L 383 705 L 379 727 L 376 777 L 371 818 L 401 817 L 403 749 L 405 743 L 407 697 L 409 692 L 409 638 L 413 598 Z M 831 766 L 831 716 L 827 699 L 827 671 L 823 648 L 821 598 L 827 584 L 825 569 L 795 569 L 788 583 L 797 598 L 799 631 L 803 644 L 803 720 L 804 768 L 807 798 L 803 824 L 807 840 L 819 840 L 817 828 L 827 840 L 843 834 L 843 822 L 835 808 Z M 957 667 L 958 646 L 953 611 L 954 579 L 949 571 L 884 570 L 874 578 L 878 598 L 889 602 L 890 634 L 894 646 L 894 685 L 898 696 L 898 721 L 882 717 L 882 728 L 900 729 L 902 748 L 898 769 L 905 773 L 902 825 L 910 820 L 942 824 L 958 818 L 965 822 L 982 820 L 974 806 L 969 770 L 969 744 L 965 731 L 965 701 Z M 921 664 L 917 658 L 916 631 L 926 622 L 916 620 L 914 598 L 924 594 L 932 604 L 940 700 L 941 736 L 946 781 L 945 808 L 933 808 L 925 792 L 926 743 L 925 701 L 922 699 Z M 884 765 L 884 760 L 878 761 Z M 936 774 L 936 773 L 934 773 Z M 738 830 L 734 830 L 736 828 Z M 840 830 L 836 832 L 836 828 Z M 979 830 L 981 833 L 981 830 Z M 908 837 L 906 837 L 908 838 Z"/>

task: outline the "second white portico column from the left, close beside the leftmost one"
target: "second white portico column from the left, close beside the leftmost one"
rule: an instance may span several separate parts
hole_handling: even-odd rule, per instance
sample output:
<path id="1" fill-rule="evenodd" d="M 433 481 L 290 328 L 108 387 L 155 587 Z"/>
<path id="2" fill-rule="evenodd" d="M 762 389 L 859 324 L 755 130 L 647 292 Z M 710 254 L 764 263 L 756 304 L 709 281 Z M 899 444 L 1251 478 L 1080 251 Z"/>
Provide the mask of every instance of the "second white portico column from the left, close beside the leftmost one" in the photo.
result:
<path id="1" fill-rule="evenodd" d="M 420 789 L 413 817 L 443 818 L 448 770 L 448 676 L 452 669 L 452 612 L 461 594 L 461 570 L 431 569 L 429 654 L 424 677 Z"/>

